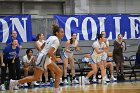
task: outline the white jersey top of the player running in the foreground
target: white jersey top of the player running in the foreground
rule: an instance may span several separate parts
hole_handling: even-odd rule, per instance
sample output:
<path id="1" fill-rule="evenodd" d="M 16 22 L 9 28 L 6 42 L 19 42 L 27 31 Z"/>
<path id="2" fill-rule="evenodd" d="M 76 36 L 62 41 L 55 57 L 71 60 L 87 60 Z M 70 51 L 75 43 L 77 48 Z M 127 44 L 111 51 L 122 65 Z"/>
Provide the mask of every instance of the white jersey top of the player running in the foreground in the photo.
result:
<path id="1" fill-rule="evenodd" d="M 43 53 L 44 55 L 46 55 L 49 51 L 49 49 L 51 47 L 55 48 L 55 51 L 57 50 L 57 48 L 60 45 L 59 39 L 56 36 L 50 36 L 46 41 L 45 41 L 45 46 L 44 48 L 41 50 L 41 53 Z M 54 52 L 55 52 L 54 51 Z"/>

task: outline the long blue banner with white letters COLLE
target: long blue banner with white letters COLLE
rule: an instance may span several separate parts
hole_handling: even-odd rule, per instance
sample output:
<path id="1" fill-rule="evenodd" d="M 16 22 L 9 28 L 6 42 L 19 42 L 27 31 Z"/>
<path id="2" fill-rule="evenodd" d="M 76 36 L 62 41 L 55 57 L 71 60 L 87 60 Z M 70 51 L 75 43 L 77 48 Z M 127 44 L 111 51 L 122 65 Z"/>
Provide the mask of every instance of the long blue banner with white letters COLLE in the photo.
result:
<path id="1" fill-rule="evenodd" d="M 54 18 L 65 31 L 64 40 L 70 39 L 72 33 L 77 33 L 79 40 L 95 40 L 101 31 L 106 31 L 108 39 L 116 39 L 120 33 L 124 39 L 140 38 L 140 15 L 55 15 Z"/>

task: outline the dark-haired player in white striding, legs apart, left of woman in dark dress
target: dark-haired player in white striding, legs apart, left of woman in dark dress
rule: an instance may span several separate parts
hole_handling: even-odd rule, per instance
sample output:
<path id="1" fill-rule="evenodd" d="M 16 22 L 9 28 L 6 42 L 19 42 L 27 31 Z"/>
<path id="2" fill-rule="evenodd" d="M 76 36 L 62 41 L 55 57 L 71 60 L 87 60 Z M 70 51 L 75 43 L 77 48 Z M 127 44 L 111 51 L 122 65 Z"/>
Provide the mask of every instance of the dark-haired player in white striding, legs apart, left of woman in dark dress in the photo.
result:
<path id="1" fill-rule="evenodd" d="M 101 60 L 101 56 L 102 56 L 102 53 L 106 52 L 108 49 L 105 47 L 105 44 L 104 44 L 104 41 L 105 41 L 104 36 L 102 34 L 99 34 L 97 38 L 98 40 L 95 41 L 92 45 L 94 49 L 93 53 L 91 54 L 92 61 L 90 63 L 92 67 L 92 71 L 90 71 L 88 75 L 86 76 L 86 78 L 84 79 L 85 84 L 89 84 L 89 77 L 97 73 L 97 66 L 101 69 L 102 84 L 107 84 L 106 78 L 105 78 L 106 72 L 105 72 L 104 65 Z"/>

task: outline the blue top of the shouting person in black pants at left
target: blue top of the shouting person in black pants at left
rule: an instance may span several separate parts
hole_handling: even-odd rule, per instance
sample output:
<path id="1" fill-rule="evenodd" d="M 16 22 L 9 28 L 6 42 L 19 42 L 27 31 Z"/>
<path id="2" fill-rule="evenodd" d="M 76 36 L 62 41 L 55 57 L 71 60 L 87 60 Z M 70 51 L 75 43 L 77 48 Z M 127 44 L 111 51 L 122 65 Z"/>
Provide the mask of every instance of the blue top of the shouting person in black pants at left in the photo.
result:
<path id="1" fill-rule="evenodd" d="M 12 45 L 8 45 L 3 50 L 4 58 L 5 59 L 13 59 L 14 56 L 16 56 L 16 58 L 17 58 L 17 57 L 19 57 L 19 51 L 20 51 L 19 47 L 12 49 Z"/>

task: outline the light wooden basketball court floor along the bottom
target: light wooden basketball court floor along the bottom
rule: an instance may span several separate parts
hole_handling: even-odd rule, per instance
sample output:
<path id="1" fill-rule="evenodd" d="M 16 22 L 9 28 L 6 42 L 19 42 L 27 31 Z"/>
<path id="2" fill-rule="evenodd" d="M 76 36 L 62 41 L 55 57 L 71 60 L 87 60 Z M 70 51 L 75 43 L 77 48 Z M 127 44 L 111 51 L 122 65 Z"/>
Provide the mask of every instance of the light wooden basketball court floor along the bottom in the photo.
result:
<path id="1" fill-rule="evenodd" d="M 107 85 L 74 85 L 61 86 L 61 93 L 140 93 L 140 81 L 110 83 Z M 52 87 L 0 91 L 0 93 L 53 93 Z"/>

